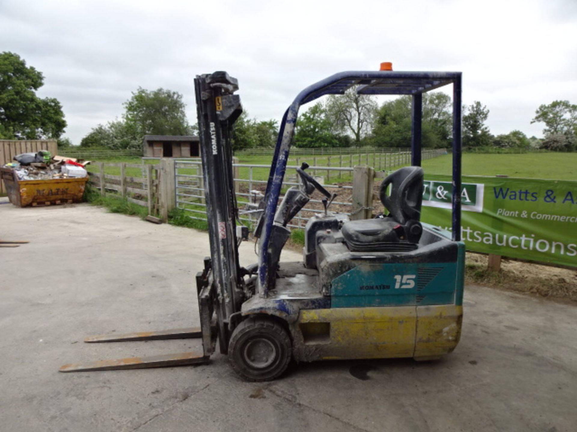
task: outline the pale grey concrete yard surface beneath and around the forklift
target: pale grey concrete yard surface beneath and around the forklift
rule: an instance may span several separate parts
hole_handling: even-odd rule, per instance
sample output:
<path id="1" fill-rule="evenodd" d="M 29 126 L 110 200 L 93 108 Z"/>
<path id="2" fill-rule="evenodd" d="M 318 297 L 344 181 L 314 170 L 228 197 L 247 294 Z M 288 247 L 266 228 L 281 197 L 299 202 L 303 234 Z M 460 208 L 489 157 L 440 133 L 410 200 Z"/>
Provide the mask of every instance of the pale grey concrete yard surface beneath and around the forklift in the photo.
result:
<path id="1" fill-rule="evenodd" d="M 317 362 L 267 383 L 239 380 L 220 354 L 202 366 L 64 374 L 70 362 L 201 349 L 197 339 L 83 339 L 198 325 L 207 233 L 87 204 L 2 204 L 0 238 L 30 241 L 0 249 L 0 431 L 577 430 L 572 305 L 468 286 L 461 342 L 437 362 Z M 253 249 L 242 245 L 244 264 Z"/>

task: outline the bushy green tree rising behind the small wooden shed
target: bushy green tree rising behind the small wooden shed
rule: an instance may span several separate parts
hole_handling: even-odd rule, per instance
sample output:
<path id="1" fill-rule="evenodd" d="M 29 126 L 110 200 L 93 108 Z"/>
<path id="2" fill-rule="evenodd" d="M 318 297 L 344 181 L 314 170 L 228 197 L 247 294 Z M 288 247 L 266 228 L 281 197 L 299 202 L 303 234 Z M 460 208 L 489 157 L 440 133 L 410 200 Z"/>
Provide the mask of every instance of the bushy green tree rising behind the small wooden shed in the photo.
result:
<path id="1" fill-rule="evenodd" d="M 144 135 L 186 135 L 190 130 L 186 105 L 178 92 L 162 88 L 149 91 L 139 87 L 124 107 L 126 127 L 140 139 Z"/>

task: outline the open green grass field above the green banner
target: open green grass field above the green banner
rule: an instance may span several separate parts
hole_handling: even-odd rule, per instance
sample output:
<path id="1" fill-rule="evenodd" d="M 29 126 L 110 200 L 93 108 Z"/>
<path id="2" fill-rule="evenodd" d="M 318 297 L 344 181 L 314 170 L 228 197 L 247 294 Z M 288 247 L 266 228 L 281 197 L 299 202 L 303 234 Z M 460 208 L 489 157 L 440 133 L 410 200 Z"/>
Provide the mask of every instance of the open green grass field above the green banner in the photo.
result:
<path id="1" fill-rule="evenodd" d="M 429 174 L 451 174 L 450 154 L 423 161 Z M 521 177 L 528 179 L 577 179 L 577 153 L 474 154 L 464 153 L 464 176 Z"/>

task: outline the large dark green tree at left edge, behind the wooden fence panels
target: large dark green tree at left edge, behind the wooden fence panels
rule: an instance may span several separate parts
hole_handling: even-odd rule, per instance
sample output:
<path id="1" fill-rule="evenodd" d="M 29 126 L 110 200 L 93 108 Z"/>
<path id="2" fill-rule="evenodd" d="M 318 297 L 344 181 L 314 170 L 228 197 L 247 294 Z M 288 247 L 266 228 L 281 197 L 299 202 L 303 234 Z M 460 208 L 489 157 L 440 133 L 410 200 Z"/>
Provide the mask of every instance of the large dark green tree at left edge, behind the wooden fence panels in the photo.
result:
<path id="1" fill-rule="evenodd" d="M 53 97 L 39 98 L 42 72 L 26 66 L 18 54 L 0 54 L 0 138 L 59 138 L 66 128 L 62 105 Z"/>

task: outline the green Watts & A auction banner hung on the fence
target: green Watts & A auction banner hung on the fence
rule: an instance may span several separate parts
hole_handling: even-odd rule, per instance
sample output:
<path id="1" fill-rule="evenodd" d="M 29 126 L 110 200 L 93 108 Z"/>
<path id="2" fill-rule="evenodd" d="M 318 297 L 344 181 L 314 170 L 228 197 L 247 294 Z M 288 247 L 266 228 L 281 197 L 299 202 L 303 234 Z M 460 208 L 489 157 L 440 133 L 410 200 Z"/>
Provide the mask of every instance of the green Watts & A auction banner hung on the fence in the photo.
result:
<path id="1" fill-rule="evenodd" d="M 463 176 L 467 249 L 577 267 L 577 181 Z M 450 176 L 425 175 L 421 221 L 451 230 Z"/>

